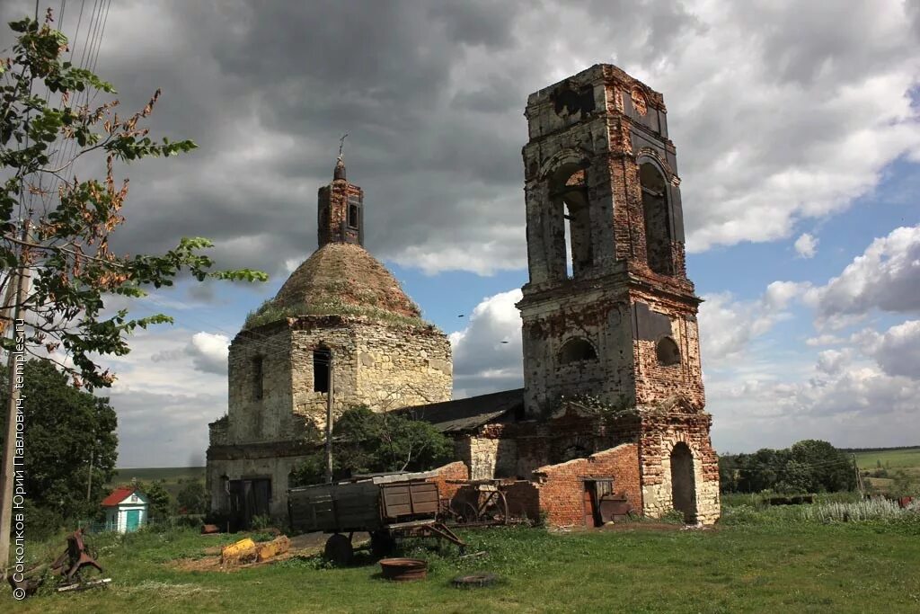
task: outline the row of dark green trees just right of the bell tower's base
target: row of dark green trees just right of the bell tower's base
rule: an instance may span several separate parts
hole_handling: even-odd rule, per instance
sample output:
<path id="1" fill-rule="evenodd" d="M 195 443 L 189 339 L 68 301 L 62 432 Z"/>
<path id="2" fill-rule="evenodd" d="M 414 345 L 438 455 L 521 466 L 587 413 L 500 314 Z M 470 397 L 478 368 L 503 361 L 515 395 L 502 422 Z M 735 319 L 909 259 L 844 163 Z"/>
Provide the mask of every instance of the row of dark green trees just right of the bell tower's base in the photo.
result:
<path id="1" fill-rule="evenodd" d="M 722 492 L 779 493 L 851 491 L 857 487 L 853 461 L 826 441 L 806 439 L 783 450 L 719 458 Z"/>

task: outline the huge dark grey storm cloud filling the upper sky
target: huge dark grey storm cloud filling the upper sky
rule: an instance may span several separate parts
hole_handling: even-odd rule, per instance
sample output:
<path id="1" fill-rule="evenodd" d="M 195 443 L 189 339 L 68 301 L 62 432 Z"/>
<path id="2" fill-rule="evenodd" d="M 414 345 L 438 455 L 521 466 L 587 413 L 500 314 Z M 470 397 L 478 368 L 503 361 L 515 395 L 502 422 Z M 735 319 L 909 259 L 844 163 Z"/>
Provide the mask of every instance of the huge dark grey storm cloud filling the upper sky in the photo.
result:
<path id="1" fill-rule="evenodd" d="M 154 132 L 200 148 L 120 169 L 132 178 L 129 223 L 112 245 L 137 253 L 212 237 L 220 264 L 284 274 L 316 246 L 316 189 L 347 132 L 375 254 L 428 272 L 521 267 L 526 97 L 597 62 L 665 93 L 690 249 L 785 237 L 801 217 L 845 206 L 916 146 L 901 98 L 906 24 L 918 17 L 903 10 L 114 3 L 98 72 L 119 87 L 124 110 L 162 87 Z M 69 7 L 65 32 L 75 33 L 76 16 Z M 85 33 L 86 19 L 78 52 Z M 847 153 L 854 141 L 867 156 Z"/>

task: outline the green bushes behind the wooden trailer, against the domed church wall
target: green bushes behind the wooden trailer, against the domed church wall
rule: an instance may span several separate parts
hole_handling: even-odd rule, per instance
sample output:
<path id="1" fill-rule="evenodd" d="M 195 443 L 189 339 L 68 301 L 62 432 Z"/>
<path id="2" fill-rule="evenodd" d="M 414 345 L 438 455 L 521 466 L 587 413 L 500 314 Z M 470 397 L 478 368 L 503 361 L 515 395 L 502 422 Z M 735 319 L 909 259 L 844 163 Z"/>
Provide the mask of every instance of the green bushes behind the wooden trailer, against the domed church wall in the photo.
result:
<path id="1" fill-rule="evenodd" d="M 337 476 L 379 471 L 421 471 L 449 462 L 450 440 L 431 424 L 392 412 L 376 413 L 367 407 L 342 412 L 332 427 L 333 471 Z M 294 485 L 325 478 L 322 450 L 306 458 L 293 471 Z"/>

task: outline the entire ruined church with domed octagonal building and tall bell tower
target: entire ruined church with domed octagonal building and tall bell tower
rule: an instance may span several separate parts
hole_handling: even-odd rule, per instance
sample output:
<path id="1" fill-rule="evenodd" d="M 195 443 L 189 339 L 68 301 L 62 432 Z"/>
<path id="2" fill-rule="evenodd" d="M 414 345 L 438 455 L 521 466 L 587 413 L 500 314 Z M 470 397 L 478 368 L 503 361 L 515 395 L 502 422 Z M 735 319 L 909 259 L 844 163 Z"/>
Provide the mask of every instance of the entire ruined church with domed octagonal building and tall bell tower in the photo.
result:
<path id="1" fill-rule="evenodd" d="M 596 64 L 532 94 L 524 115 L 524 387 L 450 400 L 450 344 L 362 248 L 363 192 L 339 157 L 318 193 L 318 249 L 231 344 L 229 411 L 208 449 L 213 510 L 285 516 L 331 368 L 336 413 L 366 404 L 434 424 L 454 440 L 452 475 L 504 479 L 512 513 L 592 526 L 616 493 L 646 516 L 718 519 L 661 94 Z"/>

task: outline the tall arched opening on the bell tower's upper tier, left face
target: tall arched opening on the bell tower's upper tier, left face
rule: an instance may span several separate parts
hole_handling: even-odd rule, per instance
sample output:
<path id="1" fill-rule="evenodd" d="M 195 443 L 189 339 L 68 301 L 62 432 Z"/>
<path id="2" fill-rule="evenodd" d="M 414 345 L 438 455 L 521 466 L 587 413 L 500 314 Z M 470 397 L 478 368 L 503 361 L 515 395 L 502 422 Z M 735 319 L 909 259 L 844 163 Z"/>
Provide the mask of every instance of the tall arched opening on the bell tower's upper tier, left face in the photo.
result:
<path id="1" fill-rule="evenodd" d="M 550 201 L 563 219 L 562 237 L 554 260 L 565 258 L 568 277 L 577 277 L 591 267 L 594 252 L 591 243 L 591 215 L 588 208 L 586 172 L 579 164 L 569 163 L 557 168 L 549 181 Z M 558 232 L 558 231 L 557 231 Z M 565 253 L 561 253 L 565 245 Z M 561 270 L 561 267 L 558 267 Z"/>

